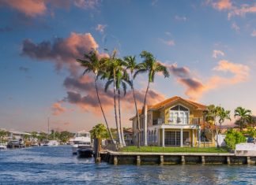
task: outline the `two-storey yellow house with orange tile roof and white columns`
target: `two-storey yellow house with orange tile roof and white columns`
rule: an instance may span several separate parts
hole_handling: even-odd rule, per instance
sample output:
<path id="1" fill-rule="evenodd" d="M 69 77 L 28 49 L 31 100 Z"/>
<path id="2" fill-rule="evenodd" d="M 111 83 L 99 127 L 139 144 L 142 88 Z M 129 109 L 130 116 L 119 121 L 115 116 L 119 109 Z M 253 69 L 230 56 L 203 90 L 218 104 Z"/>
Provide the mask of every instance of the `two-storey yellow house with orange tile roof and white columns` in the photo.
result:
<path id="1" fill-rule="evenodd" d="M 205 125 L 203 115 L 205 105 L 191 102 L 180 97 L 172 97 L 147 109 L 147 125 L 144 131 L 144 117 L 139 111 L 141 119 L 141 145 L 153 146 L 215 146 L 214 135 L 209 129 L 201 129 Z M 131 117 L 134 130 L 134 144 L 137 144 L 138 124 L 137 116 Z M 202 138 L 204 136 L 204 139 Z M 204 142 L 201 142 L 204 141 Z"/>

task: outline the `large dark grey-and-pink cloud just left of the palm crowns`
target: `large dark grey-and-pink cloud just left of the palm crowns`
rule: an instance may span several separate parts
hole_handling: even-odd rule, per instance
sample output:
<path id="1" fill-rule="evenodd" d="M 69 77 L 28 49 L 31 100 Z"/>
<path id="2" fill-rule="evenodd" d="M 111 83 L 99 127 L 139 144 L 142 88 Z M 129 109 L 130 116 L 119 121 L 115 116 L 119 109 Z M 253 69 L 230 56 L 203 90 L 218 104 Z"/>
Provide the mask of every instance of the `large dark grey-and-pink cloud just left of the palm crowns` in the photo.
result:
<path id="1" fill-rule="evenodd" d="M 31 39 L 24 39 L 21 54 L 39 61 L 51 61 L 57 70 L 66 67 L 71 74 L 76 75 L 81 68 L 76 59 L 98 47 L 90 33 L 72 32 L 68 38 L 58 38 L 54 42 L 46 40 L 34 43 Z"/>

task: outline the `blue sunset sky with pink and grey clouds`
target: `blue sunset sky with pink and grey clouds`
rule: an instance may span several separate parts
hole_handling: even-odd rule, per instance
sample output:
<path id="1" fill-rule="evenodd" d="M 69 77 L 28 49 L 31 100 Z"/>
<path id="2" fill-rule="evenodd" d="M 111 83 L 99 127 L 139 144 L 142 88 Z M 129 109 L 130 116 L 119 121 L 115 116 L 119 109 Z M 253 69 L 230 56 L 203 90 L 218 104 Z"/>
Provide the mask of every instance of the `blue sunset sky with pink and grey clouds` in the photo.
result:
<path id="1" fill-rule="evenodd" d="M 76 59 L 89 50 L 118 57 L 151 52 L 168 67 L 156 76 L 148 103 L 180 96 L 204 105 L 238 106 L 256 114 L 254 0 L 0 0 L 0 128 L 89 130 L 103 122 L 93 76 Z M 100 98 L 115 126 L 112 91 Z M 143 101 L 147 76 L 135 79 Z M 134 116 L 130 90 L 122 120 Z M 226 124 L 232 124 L 231 122 Z"/>

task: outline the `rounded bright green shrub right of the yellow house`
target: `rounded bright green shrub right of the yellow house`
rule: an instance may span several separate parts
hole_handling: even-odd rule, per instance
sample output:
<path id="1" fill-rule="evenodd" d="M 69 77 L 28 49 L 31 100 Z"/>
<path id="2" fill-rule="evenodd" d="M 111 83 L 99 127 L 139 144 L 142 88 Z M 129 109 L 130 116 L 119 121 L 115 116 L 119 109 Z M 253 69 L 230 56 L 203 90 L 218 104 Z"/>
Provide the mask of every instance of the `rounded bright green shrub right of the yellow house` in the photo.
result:
<path id="1" fill-rule="evenodd" d="M 230 149 L 235 149 L 235 144 L 246 142 L 246 141 L 247 141 L 246 137 L 244 137 L 240 131 L 235 131 L 233 129 L 227 132 L 227 135 L 225 138 L 225 142 Z"/>

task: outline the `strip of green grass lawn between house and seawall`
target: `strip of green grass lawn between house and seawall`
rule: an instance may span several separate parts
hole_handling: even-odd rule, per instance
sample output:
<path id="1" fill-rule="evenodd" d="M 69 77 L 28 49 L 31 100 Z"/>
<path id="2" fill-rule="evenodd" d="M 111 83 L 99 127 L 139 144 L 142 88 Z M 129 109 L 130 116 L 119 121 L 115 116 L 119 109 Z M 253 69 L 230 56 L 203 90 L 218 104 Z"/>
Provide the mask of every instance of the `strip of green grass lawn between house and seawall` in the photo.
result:
<path id="1" fill-rule="evenodd" d="M 141 146 L 137 148 L 137 146 L 126 146 L 119 150 L 120 152 L 187 152 L 187 153 L 228 153 L 227 148 L 198 148 L 198 147 L 161 147 L 161 146 Z"/>

